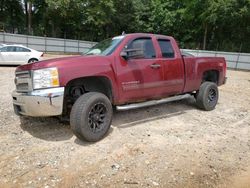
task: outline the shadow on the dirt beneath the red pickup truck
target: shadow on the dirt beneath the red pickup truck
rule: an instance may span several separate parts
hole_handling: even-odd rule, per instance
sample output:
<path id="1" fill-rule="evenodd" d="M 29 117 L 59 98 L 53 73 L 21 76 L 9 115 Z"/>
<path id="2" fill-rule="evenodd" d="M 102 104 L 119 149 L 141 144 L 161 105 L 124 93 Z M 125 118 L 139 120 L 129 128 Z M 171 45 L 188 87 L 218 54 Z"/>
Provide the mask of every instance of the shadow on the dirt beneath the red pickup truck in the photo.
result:
<path id="1" fill-rule="evenodd" d="M 153 107 L 136 110 L 114 112 L 112 126 L 117 128 L 129 128 L 143 123 L 166 119 L 185 114 L 188 110 L 194 110 L 195 100 L 190 97 L 181 101 L 156 105 Z M 74 137 L 69 122 L 61 123 L 58 118 L 33 118 L 20 117 L 20 127 L 32 136 L 46 141 L 65 141 Z M 112 127 L 108 133 L 111 134 Z M 92 143 L 83 142 L 76 138 L 76 144 L 87 146 Z"/>

